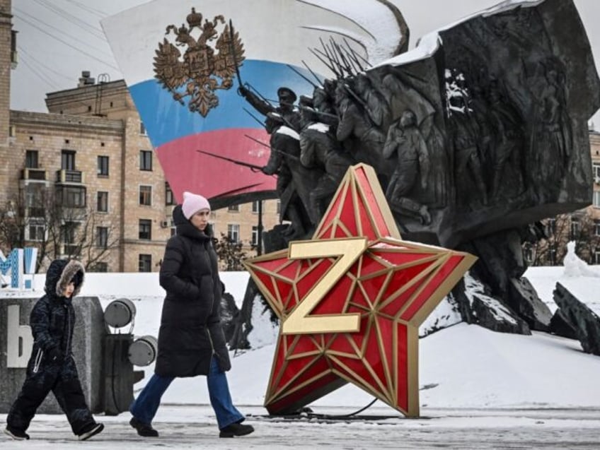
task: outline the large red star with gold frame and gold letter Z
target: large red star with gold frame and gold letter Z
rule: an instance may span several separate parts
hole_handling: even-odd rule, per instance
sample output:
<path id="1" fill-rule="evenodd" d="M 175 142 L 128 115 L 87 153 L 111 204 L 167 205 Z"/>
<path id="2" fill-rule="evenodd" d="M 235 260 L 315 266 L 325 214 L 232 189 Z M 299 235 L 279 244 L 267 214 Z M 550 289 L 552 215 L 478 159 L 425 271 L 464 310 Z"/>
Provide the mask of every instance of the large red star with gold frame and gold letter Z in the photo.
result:
<path id="1" fill-rule="evenodd" d="M 419 326 L 473 262 L 401 240 L 372 167 L 350 167 L 311 240 L 245 263 L 281 322 L 265 408 L 350 382 L 419 415 Z"/>

